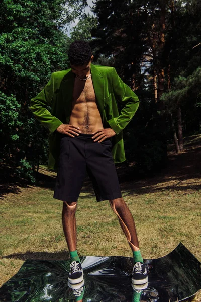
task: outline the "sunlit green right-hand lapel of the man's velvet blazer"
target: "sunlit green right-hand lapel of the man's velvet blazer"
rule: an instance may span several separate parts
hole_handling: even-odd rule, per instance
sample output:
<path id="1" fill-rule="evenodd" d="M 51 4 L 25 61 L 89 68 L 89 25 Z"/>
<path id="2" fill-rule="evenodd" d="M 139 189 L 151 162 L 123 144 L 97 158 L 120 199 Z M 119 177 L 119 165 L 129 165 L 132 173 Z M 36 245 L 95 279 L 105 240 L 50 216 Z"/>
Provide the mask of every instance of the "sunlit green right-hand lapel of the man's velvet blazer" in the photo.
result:
<path id="1" fill-rule="evenodd" d="M 100 116 L 103 120 L 104 115 L 104 77 L 102 73 L 95 67 L 95 65 L 91 64 L 91 79 L 93 82 L 93 88 L 96 97 L 97 108 L 100 112 Z"/>

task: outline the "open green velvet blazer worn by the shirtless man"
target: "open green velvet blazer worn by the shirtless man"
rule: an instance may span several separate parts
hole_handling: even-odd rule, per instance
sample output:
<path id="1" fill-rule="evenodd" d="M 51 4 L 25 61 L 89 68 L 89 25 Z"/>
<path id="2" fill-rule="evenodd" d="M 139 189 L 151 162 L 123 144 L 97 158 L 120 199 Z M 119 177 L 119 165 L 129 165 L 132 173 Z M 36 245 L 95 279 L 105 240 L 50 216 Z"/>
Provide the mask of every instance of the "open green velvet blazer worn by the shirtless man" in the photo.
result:
<path id="1" fill-rule="evenodd" d="M 120 79 L 115 68 L 91 64 L 91 78 L 96 104 L 104 128 L 112 128 L 112 155 L 115 163 L 125 161 L 122 130 L 130 122 L 139 106 L 136 94 Z M 71 114 L 74 73 L 71 69 L 53 72 L 44 89 L 31 99 L 30 110 L 47 128 L 49 135 L 48 167 L 57 170 L 60 152 L 59 135 L 55 130 L 68 124 Z M 117 101 L 123 104 L 118 112 Z M 47 107 L 51 108 L 49 111 Z"/>

